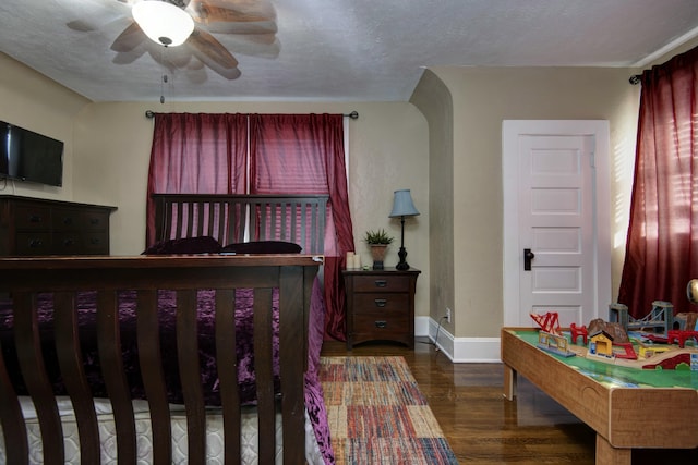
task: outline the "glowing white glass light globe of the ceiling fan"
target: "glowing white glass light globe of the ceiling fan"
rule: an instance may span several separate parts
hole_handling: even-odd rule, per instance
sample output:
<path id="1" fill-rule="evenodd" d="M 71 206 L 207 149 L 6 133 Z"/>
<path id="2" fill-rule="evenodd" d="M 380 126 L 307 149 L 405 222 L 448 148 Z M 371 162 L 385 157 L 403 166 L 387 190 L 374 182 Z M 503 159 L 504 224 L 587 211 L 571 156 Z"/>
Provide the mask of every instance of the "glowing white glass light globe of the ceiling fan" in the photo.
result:
<path id="1" fill-rule="evenodd" d="M 151 40 L 165 47 L 184 44 L 194 32 L 192 16 L 167 1 L 140 1 L 133 5 L 131 14 Z"/>

